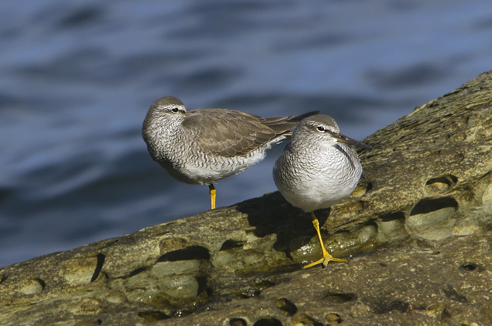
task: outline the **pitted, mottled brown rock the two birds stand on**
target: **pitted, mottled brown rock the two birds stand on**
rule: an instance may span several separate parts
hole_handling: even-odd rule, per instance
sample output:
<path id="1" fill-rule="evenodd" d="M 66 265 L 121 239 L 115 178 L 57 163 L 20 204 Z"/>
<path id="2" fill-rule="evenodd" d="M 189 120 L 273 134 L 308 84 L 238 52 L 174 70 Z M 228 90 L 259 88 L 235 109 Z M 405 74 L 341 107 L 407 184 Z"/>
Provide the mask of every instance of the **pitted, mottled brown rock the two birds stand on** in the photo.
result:
<path id="1" fill-rule="evenodd" d="M 364 142 L 351 198 L 277 192 L 0 269 L 0 325 L 492 325 L 492 72 Z"/>

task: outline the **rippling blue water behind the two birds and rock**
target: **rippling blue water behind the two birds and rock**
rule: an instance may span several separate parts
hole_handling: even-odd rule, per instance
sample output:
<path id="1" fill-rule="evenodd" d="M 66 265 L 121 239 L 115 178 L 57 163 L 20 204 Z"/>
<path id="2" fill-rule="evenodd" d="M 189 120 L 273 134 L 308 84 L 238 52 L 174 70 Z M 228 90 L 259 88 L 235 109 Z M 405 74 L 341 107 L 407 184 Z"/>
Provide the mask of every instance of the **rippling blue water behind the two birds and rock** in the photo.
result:
<path id="1" fill-rule="evenodd" d="M 0 266 L 209 207 L 154 163 L 154 99 L 320 110 L 363 139 L 492 68 L 492 2 L 6 0 L 0 10 Z M 217 205 L 276 190 L 265 161 Z"/>

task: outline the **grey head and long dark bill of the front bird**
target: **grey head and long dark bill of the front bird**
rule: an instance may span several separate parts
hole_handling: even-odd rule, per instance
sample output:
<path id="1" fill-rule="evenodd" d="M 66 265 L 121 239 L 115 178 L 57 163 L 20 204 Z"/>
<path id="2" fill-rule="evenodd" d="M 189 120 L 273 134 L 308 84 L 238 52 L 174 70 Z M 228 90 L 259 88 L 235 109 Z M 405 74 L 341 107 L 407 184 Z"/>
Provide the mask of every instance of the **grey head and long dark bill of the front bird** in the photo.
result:
<path id="1" fill-rule="evenodd" d="M 335 119 L 324 114 L 313 115 L 301 120 L 297 128 L 294 130 L 292 135 L 293 140 L 294 138 L 297 138 L 296 134 L 303 134 L 304 137 L 309 139 L 319 139 L 318 141 L 322 141 L 333 146 L 337 143 L 346 143 L 366 149 L 372 149 L 369 145 L 340 133 Z"/>

